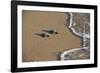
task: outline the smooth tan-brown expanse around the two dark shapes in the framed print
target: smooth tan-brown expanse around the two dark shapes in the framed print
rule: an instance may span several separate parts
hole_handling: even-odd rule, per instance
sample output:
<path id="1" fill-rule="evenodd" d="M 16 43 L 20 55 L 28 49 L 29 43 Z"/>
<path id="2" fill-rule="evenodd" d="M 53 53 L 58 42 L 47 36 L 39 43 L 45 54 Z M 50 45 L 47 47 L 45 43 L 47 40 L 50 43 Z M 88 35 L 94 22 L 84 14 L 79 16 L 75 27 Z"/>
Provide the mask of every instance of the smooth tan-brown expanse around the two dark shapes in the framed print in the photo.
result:
<path id="1" fill-rule="evenodd" d="M 80 38 L 65 27 L 65 13 L 23 11 L 22 14 L 22 61 L 55 61 L 56 53 L 80 47 Z M 42 38 L 34 33 L 42 29 L 55 29 L 57 35 Z"/>

